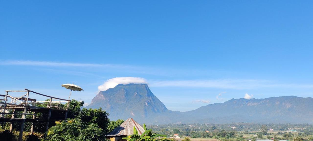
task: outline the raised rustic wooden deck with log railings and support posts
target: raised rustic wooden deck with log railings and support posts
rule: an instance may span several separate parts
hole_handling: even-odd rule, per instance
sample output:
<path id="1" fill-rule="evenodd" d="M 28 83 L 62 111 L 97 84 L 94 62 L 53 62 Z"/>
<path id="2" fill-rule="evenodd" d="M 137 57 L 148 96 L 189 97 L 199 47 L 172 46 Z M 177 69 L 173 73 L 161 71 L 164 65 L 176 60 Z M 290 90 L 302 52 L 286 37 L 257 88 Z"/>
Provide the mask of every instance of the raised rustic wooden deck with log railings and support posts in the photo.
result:
<path id="1" fill-rule="evenodd" d="M 22 141 L 24 123 L 25 122 L 45 122 L 46 131 L 48 131 L 50 121 L 65 120 L 69 108 L 70 100 L 56 98 L 41 93 L 37 93 L 28 89 L 25 91 L 5 91 L 6 94 L 0 94 L 0 122 L 11 122 L 10 130 L 12 131 L 12 123 L 18 122 L 21 124 L 19 141 Z M 13 97 L 11 93 L 26 93 L 20 97 Z M 35 93 L 44 97 L 48 97 L 49 101 L 37 101 L 37 99 L 29 98 L 29 93 Z M 4 97 L 4 98 L 1 98 Z M 60 107 L 61 103 L 65 103 L 67 107 Z M 41 107 L 38 107 L 38 105 Z M 44 105 L 44 107 L 42 107 Z M 8 112 L 12 111 L 12 112 Z M 21 113 L 21 111 L 23 113 Z M 44 113 L 43 117 L 37 117 L 36 113 Z M 11 118 L 9 116 L 11 115 Z M 15 118 L 16 115 L 22 115 L 22 118 Z M 26 118 L 26 115 L 33 115 L 32 118 Z M 33 133 L 33 125 L 31 127 L 31 134 Z"/>

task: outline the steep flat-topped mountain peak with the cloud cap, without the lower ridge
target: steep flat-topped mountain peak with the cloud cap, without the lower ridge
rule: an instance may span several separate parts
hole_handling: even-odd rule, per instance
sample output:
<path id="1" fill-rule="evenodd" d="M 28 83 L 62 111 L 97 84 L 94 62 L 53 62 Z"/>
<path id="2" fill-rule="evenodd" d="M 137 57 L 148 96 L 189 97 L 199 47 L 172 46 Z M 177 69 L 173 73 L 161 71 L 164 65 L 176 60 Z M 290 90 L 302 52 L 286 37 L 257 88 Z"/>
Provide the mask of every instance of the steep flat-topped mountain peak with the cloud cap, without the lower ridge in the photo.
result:
<path id="1" fill-rule="evenodd" d="M 99 107 L 110 113 L 111 120 L 131 117 L 138 121 L 147 121 L 161 113 L 170 112 L 146 84 L 119 84 L 100 91 L 87 108 Z"/>

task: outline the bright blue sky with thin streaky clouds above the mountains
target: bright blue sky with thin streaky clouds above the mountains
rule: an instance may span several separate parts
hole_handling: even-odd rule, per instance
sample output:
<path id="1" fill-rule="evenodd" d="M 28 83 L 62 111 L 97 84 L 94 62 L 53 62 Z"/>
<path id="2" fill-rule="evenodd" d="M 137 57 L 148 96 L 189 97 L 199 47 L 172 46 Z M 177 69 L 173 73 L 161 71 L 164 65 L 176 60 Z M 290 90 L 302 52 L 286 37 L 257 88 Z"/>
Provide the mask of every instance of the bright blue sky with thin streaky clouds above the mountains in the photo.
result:
<path id="1" fill-rule="evenodd" d="M 0 94 L 144 78 L 171 110 L 313 96 L 313 1 L 1 1 Z M 220 95 L 219 95 L 220 94 Z M 40 99 L 40 98 L 38 98 Z"/>

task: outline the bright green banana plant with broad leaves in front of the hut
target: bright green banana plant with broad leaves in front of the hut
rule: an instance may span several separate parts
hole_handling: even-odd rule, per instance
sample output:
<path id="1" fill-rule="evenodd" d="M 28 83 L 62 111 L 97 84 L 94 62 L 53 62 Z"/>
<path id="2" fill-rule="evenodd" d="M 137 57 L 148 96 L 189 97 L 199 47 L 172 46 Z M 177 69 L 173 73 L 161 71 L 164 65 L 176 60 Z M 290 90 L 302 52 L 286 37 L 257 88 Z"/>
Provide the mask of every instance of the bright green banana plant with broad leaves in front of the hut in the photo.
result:
<path id="1" fill-rule="evenodd" d="M 134 127 L 133 134 L 123 139 L 126 139 L 127 141 L 151 141 L 153 138 L 166 137 L 166 135 L 151 133 L 152 129 L 147 130 L 146 124 L 143 124 L 143 129 L 145 130 L 145 132 L 139 135 L 137 129 Z"/>

